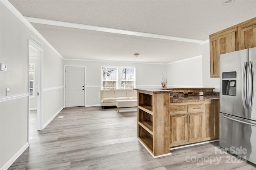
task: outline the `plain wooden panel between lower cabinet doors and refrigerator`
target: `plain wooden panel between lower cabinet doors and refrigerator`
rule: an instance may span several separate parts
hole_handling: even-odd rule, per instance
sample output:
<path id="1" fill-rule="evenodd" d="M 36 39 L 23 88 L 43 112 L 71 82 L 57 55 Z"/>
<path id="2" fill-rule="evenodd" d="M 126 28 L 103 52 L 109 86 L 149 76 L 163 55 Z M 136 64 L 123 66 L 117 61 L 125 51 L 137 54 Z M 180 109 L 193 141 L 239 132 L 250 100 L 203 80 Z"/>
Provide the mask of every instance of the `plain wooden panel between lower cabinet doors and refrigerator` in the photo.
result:
<path id="1" fill-rule="evenodd" d="M 205 104 L 204 139 L 218 139 L 218 102 Z"/>

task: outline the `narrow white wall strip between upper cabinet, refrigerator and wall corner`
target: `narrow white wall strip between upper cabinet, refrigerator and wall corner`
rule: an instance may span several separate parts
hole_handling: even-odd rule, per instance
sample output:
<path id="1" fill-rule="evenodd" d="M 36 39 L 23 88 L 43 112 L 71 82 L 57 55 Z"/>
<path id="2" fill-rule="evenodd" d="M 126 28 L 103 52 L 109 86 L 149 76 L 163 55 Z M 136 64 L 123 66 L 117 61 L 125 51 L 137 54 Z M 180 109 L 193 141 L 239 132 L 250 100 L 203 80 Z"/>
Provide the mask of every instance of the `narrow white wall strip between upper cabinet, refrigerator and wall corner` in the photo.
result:
<path id="1" fill-rule="evenodd" d="M 203 87 L 214 87 L 215 92 L 220 92 L 220 78 L 210 77 L 210 44 L 202 45 Z"/>

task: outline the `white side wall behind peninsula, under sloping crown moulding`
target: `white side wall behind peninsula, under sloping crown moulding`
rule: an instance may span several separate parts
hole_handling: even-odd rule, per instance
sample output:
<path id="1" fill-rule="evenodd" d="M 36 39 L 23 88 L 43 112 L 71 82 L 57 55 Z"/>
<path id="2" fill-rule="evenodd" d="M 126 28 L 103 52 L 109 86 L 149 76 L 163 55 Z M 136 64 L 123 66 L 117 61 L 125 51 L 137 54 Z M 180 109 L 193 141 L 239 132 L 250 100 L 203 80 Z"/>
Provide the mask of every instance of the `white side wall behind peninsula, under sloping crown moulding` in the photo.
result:
<path id="1" fill-rule="evenodd" d="M 202 87 L 202 57 L 168 64 L 167 76 L 171 87 Z"/>

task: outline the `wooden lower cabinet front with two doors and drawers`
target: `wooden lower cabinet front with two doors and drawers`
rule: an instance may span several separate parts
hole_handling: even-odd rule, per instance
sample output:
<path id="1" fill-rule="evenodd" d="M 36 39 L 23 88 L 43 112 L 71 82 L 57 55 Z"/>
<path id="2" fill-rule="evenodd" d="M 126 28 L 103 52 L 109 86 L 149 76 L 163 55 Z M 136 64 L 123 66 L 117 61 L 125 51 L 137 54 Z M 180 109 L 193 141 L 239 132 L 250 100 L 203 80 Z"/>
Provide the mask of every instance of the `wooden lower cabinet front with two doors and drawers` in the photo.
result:
<path id="1" fill-rule="evenodd" d="M 170 147 L 218 139 L 218 101 L 175 103 L 170 110 L 178 106 L 188 106 L 188 113 L 170 112 Z"/>

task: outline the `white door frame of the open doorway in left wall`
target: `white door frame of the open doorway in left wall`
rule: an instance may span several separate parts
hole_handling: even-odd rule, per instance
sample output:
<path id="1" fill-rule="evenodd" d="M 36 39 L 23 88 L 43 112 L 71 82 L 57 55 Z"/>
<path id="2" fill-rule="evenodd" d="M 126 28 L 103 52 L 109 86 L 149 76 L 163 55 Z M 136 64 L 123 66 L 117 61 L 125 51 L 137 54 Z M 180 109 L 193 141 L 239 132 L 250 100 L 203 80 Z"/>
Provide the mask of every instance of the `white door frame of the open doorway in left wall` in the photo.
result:
<path id="1" fill-rule="evenodd" d="M 29 53 L 29 48 L 33 48 L 37 51 L 37 73 L 36 73 L 36 76 L 37 76 L 37 89 L 38 89 L 38 92 L 39 92 L 39 96 L 37 98 L 37 130 L 42 130 L 43 129 L 43 123 L 42 123 L 42 114 L 43 114 L 43 49 L 39 46 L 37 46 L 35 43 L 33 43 L 31 40 L 28 39 L 28 65 L 30 63 L 30 53 Z M 29 76 L 29 70 L 28 70 L 28 76 Z M 28 77 L 29 79 L 29 77 Z M 29 92 L 29 80 L 28 80 L 28 92 Z M 37 95 L 37 94 L 35 94 Z M 30 113 L 30 109 L 29 109 L 29 95 L 28 95 L 28 143 L 29 143 L 29 139 L 30 139 L 30 131 L 29 131 L 29 113 Z"/>

